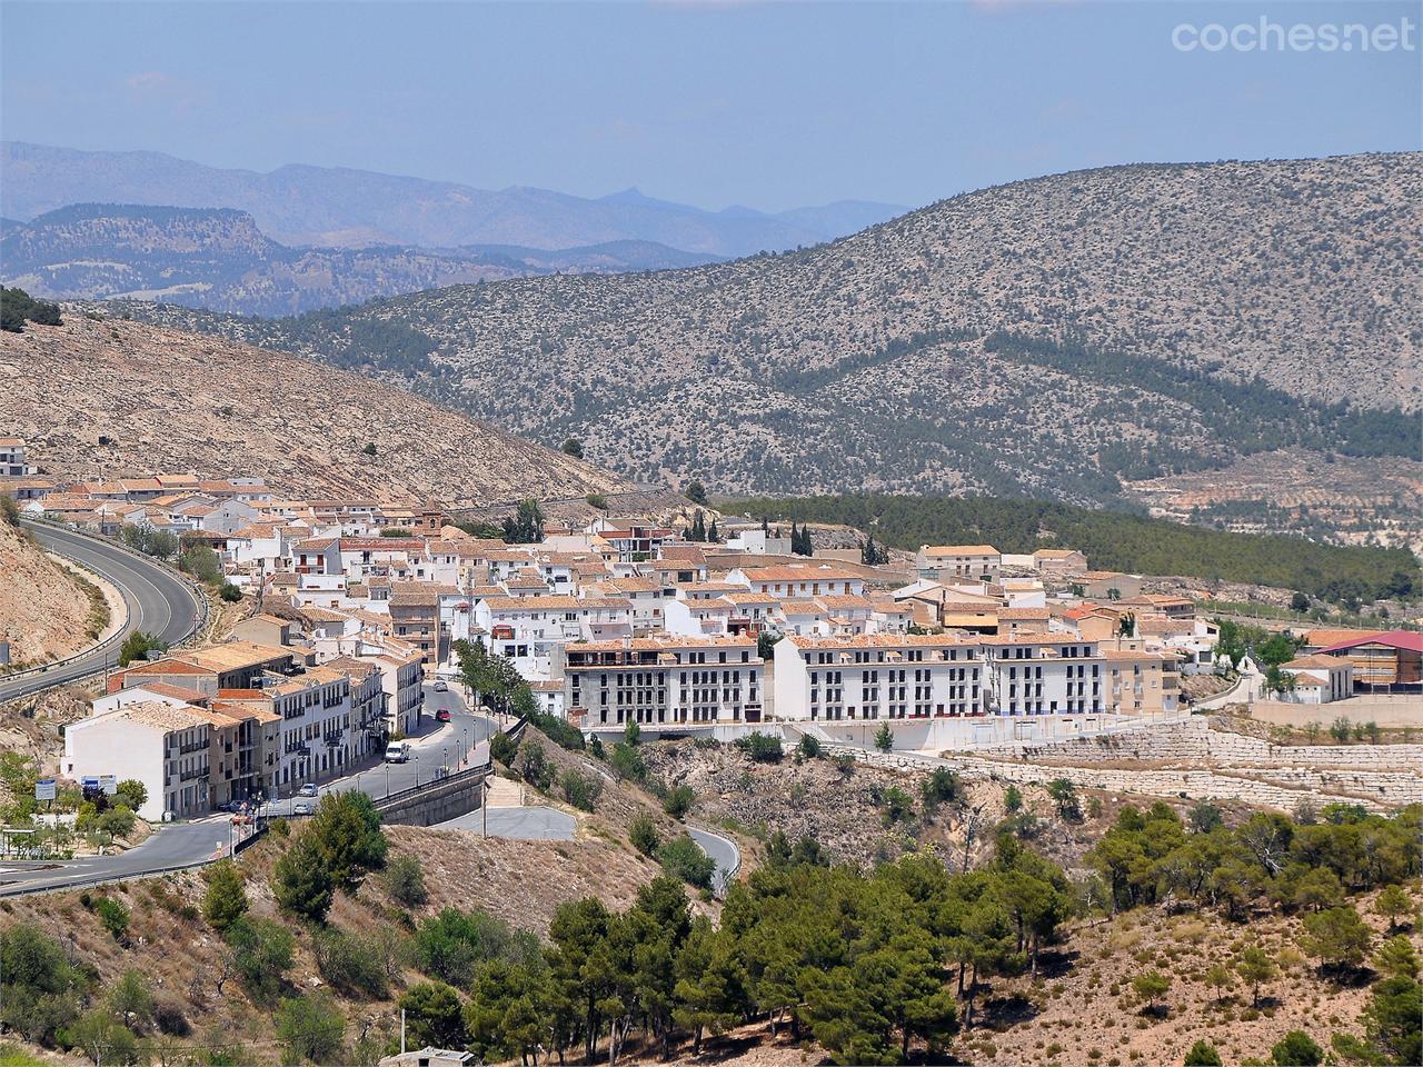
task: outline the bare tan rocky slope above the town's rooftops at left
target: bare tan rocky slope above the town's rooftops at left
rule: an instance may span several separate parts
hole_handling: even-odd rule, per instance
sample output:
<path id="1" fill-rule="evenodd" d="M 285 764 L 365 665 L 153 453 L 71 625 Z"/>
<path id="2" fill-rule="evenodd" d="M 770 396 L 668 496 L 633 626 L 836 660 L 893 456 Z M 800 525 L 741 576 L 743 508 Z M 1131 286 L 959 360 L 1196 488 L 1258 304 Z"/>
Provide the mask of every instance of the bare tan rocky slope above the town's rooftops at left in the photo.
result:
<path id="1" fill-rule="evenodd" d="M 73 306 L 63 326 L 0 336 L 0 425 L 54 475 L 249 474 L 302 497 L 477 504 L 626 488 L 388 384 Z"/>

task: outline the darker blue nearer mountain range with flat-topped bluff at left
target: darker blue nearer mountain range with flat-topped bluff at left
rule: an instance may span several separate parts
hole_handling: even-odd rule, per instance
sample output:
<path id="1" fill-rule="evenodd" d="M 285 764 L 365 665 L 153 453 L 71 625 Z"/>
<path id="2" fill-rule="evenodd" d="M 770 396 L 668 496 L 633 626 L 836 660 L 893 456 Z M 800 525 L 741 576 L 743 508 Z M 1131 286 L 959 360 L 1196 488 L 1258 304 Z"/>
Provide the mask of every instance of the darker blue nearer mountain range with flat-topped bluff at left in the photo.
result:
<path id="1" fill-rule="evenodd" d="M 527 275 L 663 270 L 716 262 L 652 240 L 544 250 L 287 248 L 245 211 L 77 203 L 0 221 L 0 280 L 51 300 L 128 297 L 283 316 Z"/>

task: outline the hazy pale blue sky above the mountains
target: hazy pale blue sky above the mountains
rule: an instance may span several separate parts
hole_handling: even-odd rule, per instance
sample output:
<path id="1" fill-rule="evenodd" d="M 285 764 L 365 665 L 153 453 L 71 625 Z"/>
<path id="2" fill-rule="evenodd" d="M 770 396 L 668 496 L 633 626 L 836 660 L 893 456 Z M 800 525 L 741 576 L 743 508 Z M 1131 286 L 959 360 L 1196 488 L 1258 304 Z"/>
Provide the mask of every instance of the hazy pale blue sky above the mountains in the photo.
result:
<path id="1" fill-rule="evenodd" d="M 1183 23 L 1413 23 L 1181 53 Z M 0 134 L 720 208 L 1420 147 L 1419 3 L 14 3 Z"/>

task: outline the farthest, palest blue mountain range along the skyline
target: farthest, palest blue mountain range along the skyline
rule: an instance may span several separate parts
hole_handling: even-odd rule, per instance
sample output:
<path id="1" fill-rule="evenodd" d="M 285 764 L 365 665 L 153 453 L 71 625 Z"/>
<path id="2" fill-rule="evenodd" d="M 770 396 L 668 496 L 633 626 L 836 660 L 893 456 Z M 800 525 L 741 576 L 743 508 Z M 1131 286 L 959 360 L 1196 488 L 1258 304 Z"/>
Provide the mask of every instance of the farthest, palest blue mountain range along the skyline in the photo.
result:
<path id="1" fill-rule="evenodd" d="M 289 248 L 515 245 L 562 250 L 638 240 L 724 259 L 845 236 L 906 208 L 842 201 L 766 213 L 703 211 L 638 189 L 586 199 L 477 189 L 370 171 L 290 165 L 222 169 L 159 152 L 83 152 L 0 142 L 0 215 L 28 222 L 75 203 L 233 208 Z M 704 262 L 704 260 L 703 260 Z"/>

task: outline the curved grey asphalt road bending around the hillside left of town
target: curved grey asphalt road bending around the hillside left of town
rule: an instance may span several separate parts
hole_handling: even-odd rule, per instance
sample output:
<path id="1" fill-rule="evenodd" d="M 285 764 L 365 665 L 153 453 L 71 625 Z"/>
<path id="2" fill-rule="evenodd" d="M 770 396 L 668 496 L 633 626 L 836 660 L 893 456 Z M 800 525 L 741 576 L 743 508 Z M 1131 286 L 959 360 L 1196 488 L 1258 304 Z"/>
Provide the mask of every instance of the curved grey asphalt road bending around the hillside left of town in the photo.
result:
<path id="1" fill-rule="evenodd" d="M 192 633 L 194 617 L 199 610 L 198 599 L 192 586 L 172 570 L 73 529 L 44 522 L 27 522 L 24 528 L 48 551 L 107 578 L 128 606 L 128 622 L 118 639 L 104 649 L 41 673 L 0 679 L 0 703 L 117 666 L 118 646 L 135 630 L 157 635 L 169 644 L 176 644 Z"/>

